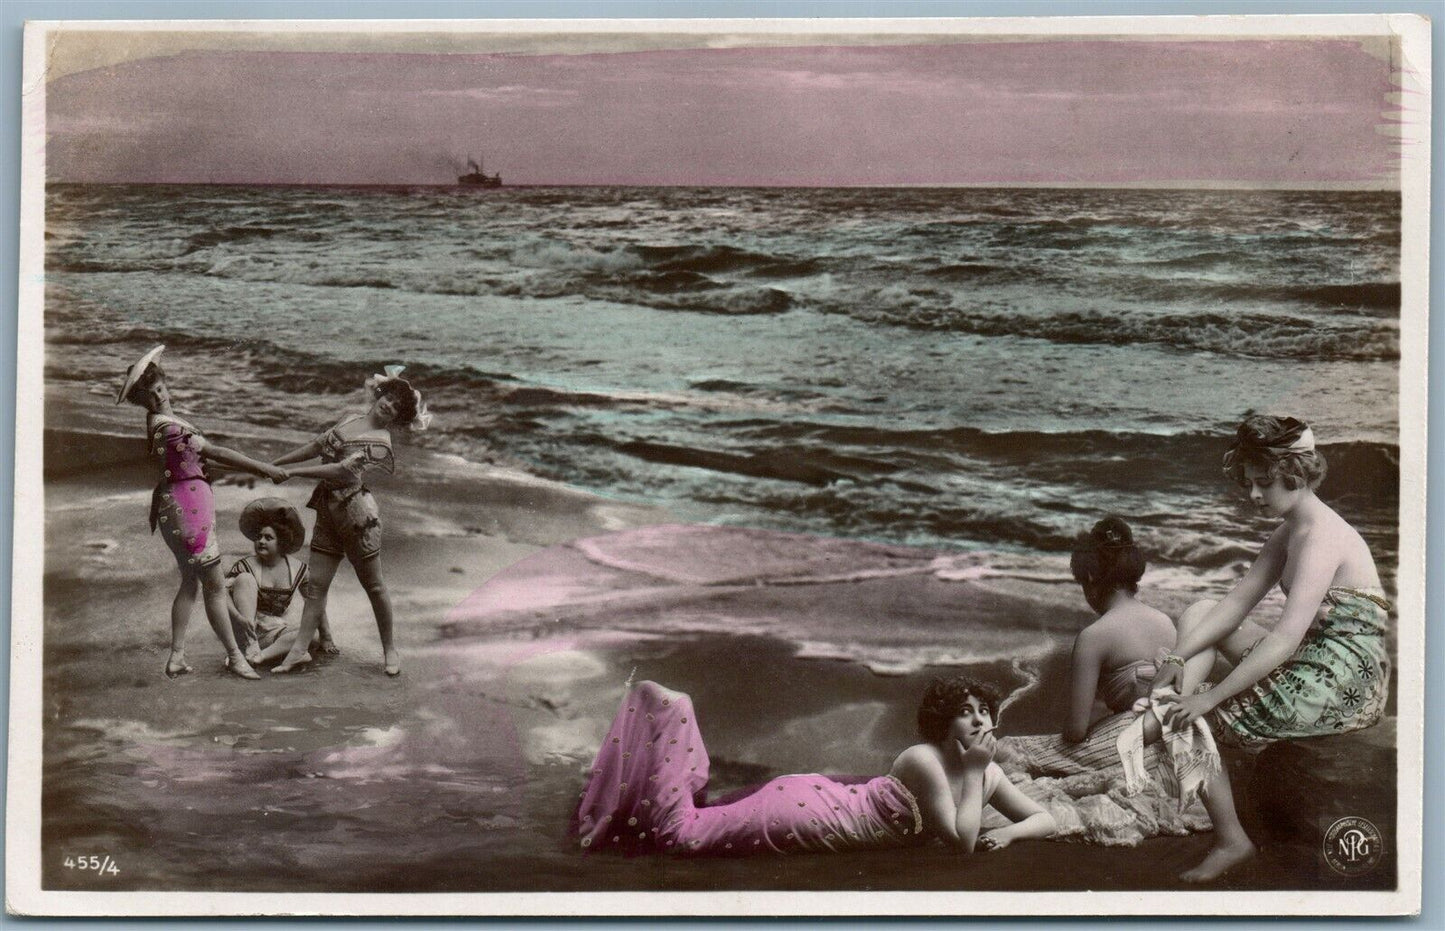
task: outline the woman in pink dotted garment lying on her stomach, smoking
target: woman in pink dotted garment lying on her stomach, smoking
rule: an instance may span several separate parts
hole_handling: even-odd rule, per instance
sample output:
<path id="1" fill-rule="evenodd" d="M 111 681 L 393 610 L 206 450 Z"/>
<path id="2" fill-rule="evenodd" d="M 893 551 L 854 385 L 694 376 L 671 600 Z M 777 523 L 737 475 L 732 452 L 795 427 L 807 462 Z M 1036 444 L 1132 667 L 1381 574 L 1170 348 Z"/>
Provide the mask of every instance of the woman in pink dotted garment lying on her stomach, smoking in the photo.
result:
<path id="1" fill-rule="evenodd" d="M 964 853 L 1048 837 L 1053 817 L 993 762 L 998 701 L 964 678 L 935 679 L 886 776 L 845 784 L 779 776 L 738 801 L 699 804 L 708 784 L 692 700 L 642 682 L 623 700 L 592 763 L 572 833 L 588 850 L 747 856 L 870 850 L 939 840 Z M 984 805 L 1013 824 L 980 834 Z"/>

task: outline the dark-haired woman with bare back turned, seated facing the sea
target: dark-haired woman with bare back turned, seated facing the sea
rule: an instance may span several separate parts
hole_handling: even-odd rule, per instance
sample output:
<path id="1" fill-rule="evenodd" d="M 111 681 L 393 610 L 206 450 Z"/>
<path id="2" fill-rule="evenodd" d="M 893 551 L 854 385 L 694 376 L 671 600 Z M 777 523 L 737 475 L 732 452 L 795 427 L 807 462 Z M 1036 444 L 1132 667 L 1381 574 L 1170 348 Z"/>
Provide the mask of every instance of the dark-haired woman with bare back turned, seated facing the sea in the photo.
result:
<path id="1" fill-rule="evenodd" d="M 1175 642 L 1169 616 L 1139 600 L 1144 565 L 1120 518 L 1104 518 L 1082 538 L 1069 568 L 1098 619 L 1074 639 L 1064 733 L 1006 737 L 1000 760 L 1036 776 L 1123 775 L 1118 734 L 1137 717 L 1130 708 L 1149 694 L 1155 664 Z"/>

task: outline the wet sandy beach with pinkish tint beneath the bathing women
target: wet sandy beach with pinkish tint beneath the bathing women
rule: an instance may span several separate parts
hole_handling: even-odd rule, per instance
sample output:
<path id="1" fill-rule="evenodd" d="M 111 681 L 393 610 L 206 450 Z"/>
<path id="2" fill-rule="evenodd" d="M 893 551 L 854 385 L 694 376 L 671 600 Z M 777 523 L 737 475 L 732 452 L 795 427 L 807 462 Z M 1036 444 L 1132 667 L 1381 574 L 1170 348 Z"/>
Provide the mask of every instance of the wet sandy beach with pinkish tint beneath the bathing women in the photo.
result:
<path id="1" fill-rule="evenodd" d="M 675 525 L 657 509 L 403 448 L 399 476 L 377 489 L 399 679 L 383 675 L 368 603 L 342 568 L 329 601 L 340 656 L 240 681 L 221 671 L 198 606 L 195 672 L 168 681 L 176 572 L 146 531 L 150 467 L 139 431 L 84 408 L 48 396 L 46 888 L 1175 889 L 1208 847 L 1196 834 L 970 859 L 584 857 L 566 821 L 629 678 L 692 695 L 714 794 L 782 772 L 876 773 L 912 742 L 923 682 L 955 665 L 1022 691 L 1006 733 L 1049 730 L 1081 600 L 997 575 L 1006 555 Z M 201 426 L 264 455 L 298 439 Z M 217 486 L 225 565 L 244 552 L 240 507 L 270 493 Z M 309 483 L 279 493 L 301 506 Z M 120 872 L 65 864 L 92 854 Z M 1224 886 L 1389 888 L 1393 869 L 1344 880 L 1312 846 L 1273 843 Z"/>

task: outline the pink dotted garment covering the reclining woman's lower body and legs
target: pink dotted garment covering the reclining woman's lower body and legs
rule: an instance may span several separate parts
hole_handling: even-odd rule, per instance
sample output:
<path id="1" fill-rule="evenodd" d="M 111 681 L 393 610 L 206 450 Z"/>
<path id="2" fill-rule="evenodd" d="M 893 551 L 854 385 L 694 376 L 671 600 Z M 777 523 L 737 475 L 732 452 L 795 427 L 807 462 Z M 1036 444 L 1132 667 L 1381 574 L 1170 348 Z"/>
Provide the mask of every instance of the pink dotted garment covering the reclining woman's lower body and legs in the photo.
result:
<path id="1" fill-rule="evenodd" d="M 855 785 L 779 776 L 746 798 L 707 805 L 708 752 L 692 700 L 656 682 L 623 700 L 591 773 L 572 824 L 588 851 L 749 856 L 922 840 L 918 804 L 893 776 Z"/>

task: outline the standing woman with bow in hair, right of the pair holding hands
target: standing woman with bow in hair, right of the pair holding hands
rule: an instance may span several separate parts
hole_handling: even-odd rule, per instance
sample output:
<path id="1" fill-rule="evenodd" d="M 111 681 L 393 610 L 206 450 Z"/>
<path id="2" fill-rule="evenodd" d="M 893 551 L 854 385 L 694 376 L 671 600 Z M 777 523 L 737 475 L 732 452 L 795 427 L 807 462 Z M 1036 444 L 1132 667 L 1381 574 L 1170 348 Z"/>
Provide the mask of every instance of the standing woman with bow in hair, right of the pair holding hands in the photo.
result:
<path id="1" fill-rule="evenodd" d="M 377 468 L 392 473 L 393 426 L 407 426 L 413 432 L 426 429 L 431 415 L 422 393 L 402 377 L 402 366 L 387 366 L 386 374 L 366 382 L 371 403 L 367 411 L 338 421 L 303 447 L 276 458 L 276 466 L 321 458 L 319 466 L 292 468 L 292 476 L 319 479 L 308 507 L 316 512 L 311 532 L 309 578 L 302 587 L 306 597 L 301 613 L 301 630 L 273 672 L 290 672 L 311 662 L 308 645 L 327 612 L 327 591 L 342 557 L 351 561 L 361 587 L 371 601 L 376 627 L 381 635 L 381 653 L 387 675 L 402 674 L 402 659 L 392 639 L 392 597 L 381 581 L 381 512 L 371 492 L 363 483 L 367 473 Z"/>

